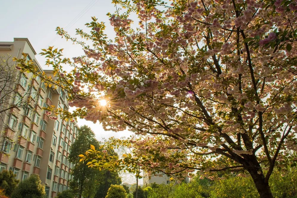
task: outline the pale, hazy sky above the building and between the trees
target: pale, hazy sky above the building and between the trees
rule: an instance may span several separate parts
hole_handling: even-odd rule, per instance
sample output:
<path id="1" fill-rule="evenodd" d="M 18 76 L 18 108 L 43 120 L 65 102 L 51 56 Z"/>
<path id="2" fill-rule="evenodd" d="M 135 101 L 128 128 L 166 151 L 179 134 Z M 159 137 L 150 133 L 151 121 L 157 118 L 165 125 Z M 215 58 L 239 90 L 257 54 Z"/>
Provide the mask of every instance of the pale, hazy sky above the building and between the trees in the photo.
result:
<path id="1" fill-rule="evenodd" d="M 64 48 L 63 54 L 68 58 L 80 56 L 83 50 L 72 42 L 67 42 L 56 35 L 56 27 L 63 27 L 70 35 L 75 35 L 75 28 L 86 30 L 85 23 L 91 21 L 91 16 L 98 18 L 106 24 L 105 33 L 114 37 L 113 27 L 110 26 L 107 12 L 113 13 L 115 8 L 111 0 L 0 0 L 1 25 L 0 41 L 11 42 L 13 38 L 28 38 L 37 54 L 48 46 Z M 35 57 L 43 69 L 45 58 Z M 107 132 L 102 126 L 90 121 L 78 120 L 78 125 L 88 125 L 94 131 L 96 138 L 130 136 L 130 132 Z M 131 175 L 123 175 L 123 182 L 134 183 Z M 141 183 L 141 182 L 140 182 Z"/>

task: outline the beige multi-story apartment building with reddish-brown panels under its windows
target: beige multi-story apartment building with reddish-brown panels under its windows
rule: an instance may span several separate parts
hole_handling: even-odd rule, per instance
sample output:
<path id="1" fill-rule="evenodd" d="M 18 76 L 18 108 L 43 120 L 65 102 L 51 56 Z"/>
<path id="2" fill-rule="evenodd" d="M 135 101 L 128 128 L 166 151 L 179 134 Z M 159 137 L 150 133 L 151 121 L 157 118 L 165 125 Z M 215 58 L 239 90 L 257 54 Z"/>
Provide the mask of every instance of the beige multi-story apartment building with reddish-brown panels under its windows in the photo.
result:
<path id="1" fill-rule="evenodd" d="M 45 72 L 35 59 L 36 51 L 27 38 L 14 38 L 13 42 L 0 42 L 0 54 L 10 54 L 27 59 Z M 75 141 L 77 121 L 49 119 L 42 107 L 54 105 L 68 110 L 67 93 L 64 90 L 46 87 L 41 78 L 32 73 L 16 70 L 16 89 L 6 99 L 15 104 L 20 98 L 26 100 L 24 107 L 15 107 L 2 113 L 0 121 L 0 171 L 12 170 L 16 178 L 24 180 L 31 174 L 40 176 L 45 184 L 48 197 L 56 197 L 57 192 L 68 189 L 69 174 L 73 164 L 67 160 L 69 147 Z"/>

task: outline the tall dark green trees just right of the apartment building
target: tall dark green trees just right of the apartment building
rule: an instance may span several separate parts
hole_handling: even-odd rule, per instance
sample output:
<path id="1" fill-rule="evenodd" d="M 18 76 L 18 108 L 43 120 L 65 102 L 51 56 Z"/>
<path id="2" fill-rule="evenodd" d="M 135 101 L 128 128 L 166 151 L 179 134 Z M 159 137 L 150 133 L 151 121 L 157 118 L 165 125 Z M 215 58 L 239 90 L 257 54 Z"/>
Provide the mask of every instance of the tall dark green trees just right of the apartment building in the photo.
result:
<path id="1" fill-rule="evenodd" d="M 70 147 L 68 159 L 75 166 L 71 170 L 73 178 L 69 186 L 77 196 L 104 198 L 111 184 L 121 184 L 121 178 L 117 172 L 91 169 L 86 166 L 88 161 L 80 162 L 78 156 L 90 145 L 100 147 L 94 132 L 86 125 L 81 126 L 77 140 Z M 108 150 L 108 154 L 116 156 L 113 150 Z"/>

